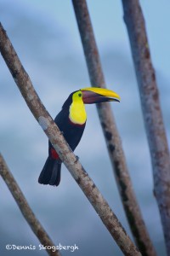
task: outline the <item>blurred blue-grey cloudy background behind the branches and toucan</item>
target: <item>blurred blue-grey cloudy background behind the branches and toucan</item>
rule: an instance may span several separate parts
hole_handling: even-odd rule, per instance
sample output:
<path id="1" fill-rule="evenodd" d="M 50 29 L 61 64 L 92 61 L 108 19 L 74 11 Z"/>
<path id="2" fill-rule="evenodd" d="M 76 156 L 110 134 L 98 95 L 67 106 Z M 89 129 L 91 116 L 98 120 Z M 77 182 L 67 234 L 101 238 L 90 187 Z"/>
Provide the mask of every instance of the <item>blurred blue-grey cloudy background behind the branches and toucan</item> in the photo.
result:
<path id="1" fill-rule="evenodd" d="M 169 133 L 170 3 L 140 1 L 160 90 L 161 108 Z M 88 1 L 107 87 L 122 102 L 112 103 L 127 165 L 144 221 L 159 255 L 165 255 L 160 216 L 153 195 L 150 153 L 144 131 L 139 91 L 133 70 L 121 1 Z M 14 44 L 49 113 L 55 117 L 73 90 L 90 86 L 71 1 L 1 0 L 0 20 Z M 26 195 L 33 212 L 54 244 L 79 247 L 74 255 L 122 255 L 81 189 L 62 167 L 58 188 L 37 183 L 48 154 L 48 139 L 37 125 L 0 57 L 0 149 Z M 83 166 L 131 236 L 117 192 L 95 106 L 87 108 L 88 123 L 76 150 Z M 7 251 L 6 244 L 38 246 L 0 180 L 0 252 L 5 255 L 45 255 L 39 251 Z M 70 255 L 69 251 L 61 251 Z"/>

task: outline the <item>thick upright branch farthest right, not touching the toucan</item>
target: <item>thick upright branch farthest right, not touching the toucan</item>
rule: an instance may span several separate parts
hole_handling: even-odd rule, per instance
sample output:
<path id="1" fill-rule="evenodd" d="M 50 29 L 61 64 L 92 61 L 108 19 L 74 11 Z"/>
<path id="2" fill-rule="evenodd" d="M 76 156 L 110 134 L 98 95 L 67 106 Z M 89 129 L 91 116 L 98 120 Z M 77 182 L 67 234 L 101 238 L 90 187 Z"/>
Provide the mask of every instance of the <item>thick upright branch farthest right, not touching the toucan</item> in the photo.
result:
<path id="1" fill-rule="evenodd" d="M 122 0 L 122 5 L 150 146 L 154 191 L 161 214 L 167 253 L 170 255 L 170 155 L 161 115 L 156 75 L 151 63 L 144 16 L 139 1 Z"/>

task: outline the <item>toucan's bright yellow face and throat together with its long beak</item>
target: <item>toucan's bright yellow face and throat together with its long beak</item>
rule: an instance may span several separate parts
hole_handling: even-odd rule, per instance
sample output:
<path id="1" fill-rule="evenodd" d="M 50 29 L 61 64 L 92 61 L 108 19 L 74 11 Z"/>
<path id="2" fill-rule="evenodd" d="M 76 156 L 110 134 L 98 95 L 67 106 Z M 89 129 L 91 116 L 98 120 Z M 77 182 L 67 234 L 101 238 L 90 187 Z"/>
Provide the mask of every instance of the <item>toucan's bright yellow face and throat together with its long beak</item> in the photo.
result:
<path id="1" fill-rule="evenodd" d="M 120 102 L 120 96 L 113 90 L 95 87 L 77 90 L 71 94 L 71 97 L 69 119 L 77 125 L 83 125 L 86 122 L 87 113 L 84 104 Z"/>

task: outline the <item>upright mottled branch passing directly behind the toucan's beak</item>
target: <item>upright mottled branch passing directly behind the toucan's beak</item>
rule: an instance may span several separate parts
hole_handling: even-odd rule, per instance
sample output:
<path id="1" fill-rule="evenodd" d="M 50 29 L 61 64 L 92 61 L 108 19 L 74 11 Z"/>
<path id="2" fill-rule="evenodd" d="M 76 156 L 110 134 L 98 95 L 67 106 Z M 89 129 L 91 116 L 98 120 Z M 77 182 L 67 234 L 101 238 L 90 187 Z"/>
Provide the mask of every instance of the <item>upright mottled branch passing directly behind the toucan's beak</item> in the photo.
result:
<path id="1" fill-rule="evenodd" d="M 77 24 L 82 38 L 84 55 L 88 65 L 88 73 L 92 86 L 105 88 L 105 78 L 100 65 L 99 53 L 94 38 L 93 27 L 88 14 L 85 0 L 72 0 Z M 133 192 L 133 185 L 127 170 L 127 163 L 122 149 L 121 139 L 116 129 L 111 105 L 97 105 L 100 123 L 105 135 L 105 142 L 111 158 L 111 164 L 116 176 L 117 186 L 122 197 L 127 220 L 132 230 L 139 250 L 144 255 L 156 255 L 150 241 L 150 236 L 144 225 L 138 202 Z"/>

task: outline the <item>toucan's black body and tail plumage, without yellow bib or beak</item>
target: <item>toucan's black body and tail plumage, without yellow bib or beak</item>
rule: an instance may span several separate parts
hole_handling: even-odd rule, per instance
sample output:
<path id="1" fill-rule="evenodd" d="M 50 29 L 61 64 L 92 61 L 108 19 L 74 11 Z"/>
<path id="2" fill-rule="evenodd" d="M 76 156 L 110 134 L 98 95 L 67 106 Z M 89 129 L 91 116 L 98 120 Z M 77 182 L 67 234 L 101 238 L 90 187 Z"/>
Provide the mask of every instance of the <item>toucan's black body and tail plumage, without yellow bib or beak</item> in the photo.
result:
<path id="1" fill-rule="evenodd" d="M 58 125 L 59 130 L 63 133 L 63 136 L 65 137 L 65 140 L 71 147 L 72 151 L 77 148 L 86 125 L 86 122 L 83 125 L 74 124 L 71 122 L 71 119 L 69 119 L 69 108 L 71 106 L 73 93 L 71 93 L 71 95 L 65 101 L 61 111 L 54 119 L 54 122 L 56 125 Z M 48 159 L 42 168 L 42 172 L 38 178 L 38 183 L 58 186 L 60 182 L 61 163 L 62 162 L 59 160 L 59 156 L 55 152 L 53 145 L 48 142 Z"/>

